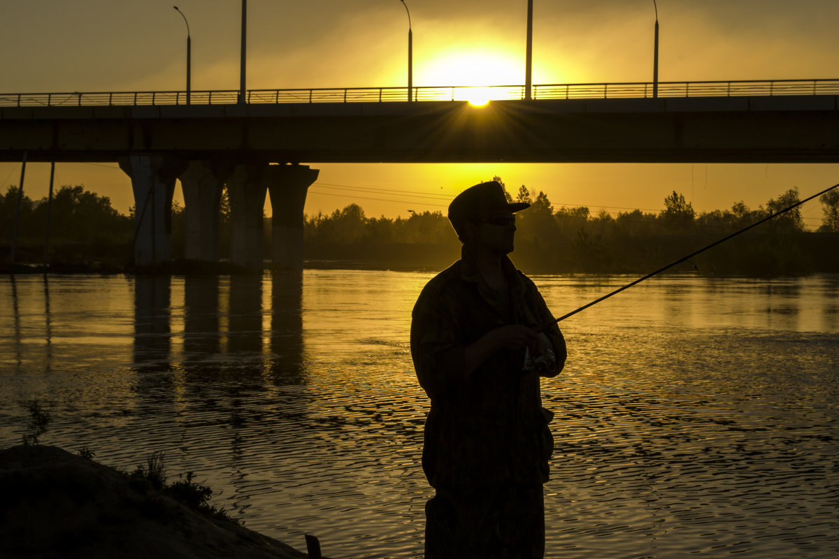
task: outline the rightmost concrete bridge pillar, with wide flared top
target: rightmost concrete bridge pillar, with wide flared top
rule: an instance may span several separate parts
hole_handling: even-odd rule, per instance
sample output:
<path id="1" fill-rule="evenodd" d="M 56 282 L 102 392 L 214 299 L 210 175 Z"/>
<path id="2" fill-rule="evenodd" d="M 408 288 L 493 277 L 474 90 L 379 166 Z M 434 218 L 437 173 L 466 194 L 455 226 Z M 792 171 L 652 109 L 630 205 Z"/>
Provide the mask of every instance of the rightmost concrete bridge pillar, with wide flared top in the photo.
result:
<path id="1" fill-rule="evenodd" d="M 303 207 L 306 192 L 317 179 L 319 169 L 308 165 L 274 165 L 271 194 L 272 260 L 275 267 L 303 268 Z"/>

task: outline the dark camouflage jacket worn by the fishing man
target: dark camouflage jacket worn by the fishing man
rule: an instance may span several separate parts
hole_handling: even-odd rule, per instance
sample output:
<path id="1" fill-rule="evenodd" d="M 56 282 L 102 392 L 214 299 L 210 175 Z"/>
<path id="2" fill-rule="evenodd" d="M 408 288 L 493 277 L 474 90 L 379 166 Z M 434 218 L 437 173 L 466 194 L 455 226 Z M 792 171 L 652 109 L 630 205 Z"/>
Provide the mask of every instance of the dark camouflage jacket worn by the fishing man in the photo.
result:
<path id="1" fill-rule="evenodd" d="M 553 415 L 541 406 L 539 375 L 524 372 L 524 349 L 499 349 L 468 379 L 465 348 L 510 323 L 551 323 L 533 282 L 505 256 L 508 305 L 481 281 L 467 251 L 425 286 L 411 323 L 411 355 L 420 386 L 431 399 L 425 420 L 423 469 L 432 487 L 532 483 L 548 479 Z M 506 312 L 505 312 L 506 309 Z M 545 329 L 556 368 L 565 363 L 559 327 Z"/>

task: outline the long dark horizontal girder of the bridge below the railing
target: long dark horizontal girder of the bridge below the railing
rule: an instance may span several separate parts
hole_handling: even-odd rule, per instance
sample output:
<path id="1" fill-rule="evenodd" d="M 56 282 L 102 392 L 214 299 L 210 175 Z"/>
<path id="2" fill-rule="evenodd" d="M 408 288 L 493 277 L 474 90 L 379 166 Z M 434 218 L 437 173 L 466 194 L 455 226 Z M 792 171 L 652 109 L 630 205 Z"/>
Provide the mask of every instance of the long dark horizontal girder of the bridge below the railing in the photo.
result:
<path id="1" fill-rule="evenodd" d="M 836 163 L 837 96 L 49 106 L 0 110 L 0 160 Z"/>

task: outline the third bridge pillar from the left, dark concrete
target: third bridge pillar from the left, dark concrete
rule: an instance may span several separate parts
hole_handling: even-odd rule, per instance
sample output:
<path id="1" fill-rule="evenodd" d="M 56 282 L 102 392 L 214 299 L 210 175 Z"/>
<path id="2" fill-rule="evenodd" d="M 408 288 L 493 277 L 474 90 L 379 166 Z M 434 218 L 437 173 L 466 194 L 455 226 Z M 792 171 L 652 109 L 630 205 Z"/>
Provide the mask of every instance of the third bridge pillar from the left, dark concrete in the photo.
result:
<path id="1" fill-rule="evenodd" d="M 263 265 L 263 210 L 268 164 L 237 165 L 227 179 L 230 200 L 230 261 L 254 270 Z"/>

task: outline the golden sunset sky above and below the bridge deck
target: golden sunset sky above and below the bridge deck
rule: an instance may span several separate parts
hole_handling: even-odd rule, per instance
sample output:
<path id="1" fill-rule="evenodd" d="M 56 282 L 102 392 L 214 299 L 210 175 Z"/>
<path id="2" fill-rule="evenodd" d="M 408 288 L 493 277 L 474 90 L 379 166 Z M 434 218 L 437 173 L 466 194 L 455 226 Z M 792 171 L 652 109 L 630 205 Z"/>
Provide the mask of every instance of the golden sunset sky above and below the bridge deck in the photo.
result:
<path id="1" fill-rule="evenodd" d="M 193 90 L 239 86 L 240 0 L 175 0 L 192 37 Z M 406 0 L 414 85 L 524 83 L 526 0 Z M 834 78 L 836 0 L 659 0 L 659 80 Z M 185 89 L 183 18 L 171 0 L 28 0 L 0 7 L 0 92 Z M 649 81 L 652 0 L 534 0 L 534 84 Z M 250 0 L 248 88 L 400 86 L 408 16 L 399 0 Z M 555 206 L 657 211 L 673 190 L 696 210 L 765 204 L 839 182 L 812 164 L 312 164 L 306 212 L 357 202 L 367 215 L 445 210 L 447 200 L 500 175 L 543 190 Z M 0 164 L 0 190 L 20 165 Z M 46 194 L 49 165 L 30 163 L 24 191 Z M 56 185 L 85 184 L 117 210 L 133 204 L 112 163 L 60 164 Z M 180 186 L 176 197 L 180 199 Z M 268 209 L 269 211 L 269 209 Z M 810 225 L 821 210 L 805 207 Z"/>

